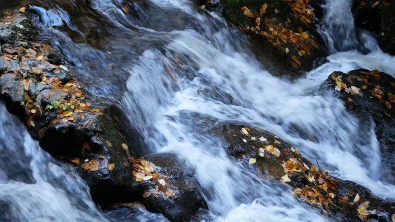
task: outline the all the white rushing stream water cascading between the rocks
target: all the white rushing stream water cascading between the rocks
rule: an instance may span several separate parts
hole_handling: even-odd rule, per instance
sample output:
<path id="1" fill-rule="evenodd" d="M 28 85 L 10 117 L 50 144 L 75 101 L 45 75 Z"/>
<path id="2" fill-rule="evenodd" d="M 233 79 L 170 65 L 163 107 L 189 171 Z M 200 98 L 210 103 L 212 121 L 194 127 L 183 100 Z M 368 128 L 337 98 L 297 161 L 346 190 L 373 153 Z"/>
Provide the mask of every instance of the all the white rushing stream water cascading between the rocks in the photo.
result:
<path id="1" fill-rule="evenodd" d="M 100 22 L 106 24 L 99 43 L 77 41 L 84 39 L 81 36 L 89 39 L 78 19 L 73 21 L 78 12 L 69 15 L 69 8 L 55 3 L 37 3 L 34 9 L 35 22 L 45 30 L 41 38 L 62 50 L 91 93 L 122 107 L 148 144 L 148 153 L 175 153 L 195 169 L 213 220 L 338 221 L 341 218 L 329 218 L 295 199 L 290 187 L 247 173 L 227 156 L 221 138 L 202 132 L 228 122 L 262 128 L 333 175 L 360 183 L 379 197 L 395 198 L 394 178 L 381 164 L 373 121 L 358 121 L 319 87 L 333 71 L 378 68 L 395 74 L 395 58 L 383 53 L 370 33 L 356 30 L 351 1 L 343 3 L 327 0 L 319 27 L 334 54 L 295 81 L 264 70 L 244 34 L 191 0 L 135 1 L 128 5 L 130 14 L 121 10 L 120 0 L 92 0 Z M 369 53 L 355 50 L 360 48 Z M 0 204 L 10 205 L 11 213 L 22 212 L 10 216 L 37 221 L 63 216 L 68 221 L 112 219 L 113 213 L 104 215 L 95 208 L 72 170 L 41 151 L 3 107 L 0 111 L 0 151 L 9 153 L 0 164 L 21 169 L 15 178 L 0 171 L 5 184 Z M 12 137 L 5 137 L 10 132 Z M 20 156 L 28 161 L 14 160 Z M 164 220 L 144 215 L 136 220 Z"/>

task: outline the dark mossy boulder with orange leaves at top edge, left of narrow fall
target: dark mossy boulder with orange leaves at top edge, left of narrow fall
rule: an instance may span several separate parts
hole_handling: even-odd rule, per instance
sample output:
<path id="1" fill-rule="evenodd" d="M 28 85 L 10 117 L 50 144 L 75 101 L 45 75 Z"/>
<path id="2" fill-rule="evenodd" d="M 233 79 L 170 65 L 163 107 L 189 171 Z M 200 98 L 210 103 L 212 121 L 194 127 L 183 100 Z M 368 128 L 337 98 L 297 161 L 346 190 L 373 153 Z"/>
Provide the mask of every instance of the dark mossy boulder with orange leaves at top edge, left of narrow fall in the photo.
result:
<path id="1" fill-rule="evenodd" d="M 318 20 L 309 1 L 198 2 L 205 3 L 208 9 L 212 4 L 221 4 L 223 16 L 252 38 L 262 63 L 281 63 L 291 73 L 302 73 L 327 55 L 325 42 L 316 31 Z M 314 6 L 319 8 L 318 5 Z"/>

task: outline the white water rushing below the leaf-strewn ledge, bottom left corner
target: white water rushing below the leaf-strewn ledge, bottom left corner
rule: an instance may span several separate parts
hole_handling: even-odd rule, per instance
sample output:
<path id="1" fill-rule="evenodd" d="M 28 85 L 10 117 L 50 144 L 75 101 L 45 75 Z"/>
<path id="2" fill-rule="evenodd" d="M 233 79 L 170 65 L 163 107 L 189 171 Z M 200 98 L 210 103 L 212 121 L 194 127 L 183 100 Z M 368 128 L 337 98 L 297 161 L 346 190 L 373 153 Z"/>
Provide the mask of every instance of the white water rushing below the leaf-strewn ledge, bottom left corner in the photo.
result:
<path id="1" fill-rule="evenodd" d="M 84 182 L 42 151 L 3 104 L 0 153 L 0 220 L 107 221 Z"/>

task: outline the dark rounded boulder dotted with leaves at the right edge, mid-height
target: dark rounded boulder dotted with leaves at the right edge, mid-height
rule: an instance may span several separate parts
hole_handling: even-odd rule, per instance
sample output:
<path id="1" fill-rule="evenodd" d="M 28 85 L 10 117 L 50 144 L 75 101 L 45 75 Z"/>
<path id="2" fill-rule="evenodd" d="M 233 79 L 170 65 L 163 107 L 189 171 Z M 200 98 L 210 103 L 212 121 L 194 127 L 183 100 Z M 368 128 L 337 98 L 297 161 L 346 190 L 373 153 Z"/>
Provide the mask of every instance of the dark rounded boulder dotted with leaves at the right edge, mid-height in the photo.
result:
<path id="1" fill-rule="evenodd" d="M 379 70 L 357 69 L 350 72 L 334 72 L 323 87 L 343 100 L 361 125 L 375 124 L 380 142 L 382 163 L 388 168 L 386 179 L 394 181 L 395 175 L 395 78 Z M 391 179 L 392 178 L 392 179 Z"/>

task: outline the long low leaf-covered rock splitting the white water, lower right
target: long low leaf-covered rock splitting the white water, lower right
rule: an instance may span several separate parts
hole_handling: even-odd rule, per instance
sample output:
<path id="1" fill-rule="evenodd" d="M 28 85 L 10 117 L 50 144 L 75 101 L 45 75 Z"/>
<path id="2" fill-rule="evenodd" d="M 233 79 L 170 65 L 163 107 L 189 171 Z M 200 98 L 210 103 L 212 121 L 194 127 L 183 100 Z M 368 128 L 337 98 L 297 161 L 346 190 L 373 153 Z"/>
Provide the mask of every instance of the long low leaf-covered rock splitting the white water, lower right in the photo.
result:
<path id="1" fill-rule="evenodd" d="M 222 125 L 215 131 L 224 136 L 227 153 L 250 172 L 289 184 L 296 197 L 334 219 L 342 215 L 347 221 L 391 221 L 395 213 L 393 202 L 373 196 L 355 182 L 329 175 L 273 134 L 236 124 Z"/>

